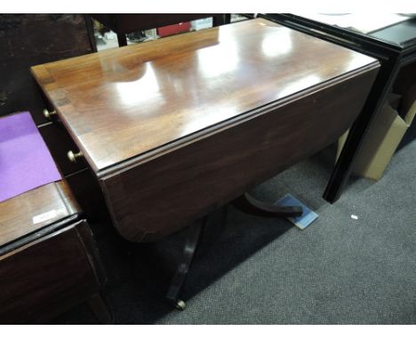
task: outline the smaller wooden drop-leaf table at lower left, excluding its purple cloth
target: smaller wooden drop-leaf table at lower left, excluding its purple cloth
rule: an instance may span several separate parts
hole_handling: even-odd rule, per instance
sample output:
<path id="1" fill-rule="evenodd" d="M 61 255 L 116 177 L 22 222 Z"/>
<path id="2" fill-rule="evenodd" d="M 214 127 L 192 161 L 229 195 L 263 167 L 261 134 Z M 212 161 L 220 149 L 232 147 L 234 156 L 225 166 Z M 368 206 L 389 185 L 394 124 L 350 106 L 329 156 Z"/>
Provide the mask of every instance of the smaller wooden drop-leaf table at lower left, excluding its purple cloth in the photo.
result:
<path id="1" fill-rule="evenodd" d="M 99 295 L 105 280 L 65 181 L 0 202 L 0 323 L 44 323 L 84 301 L 108 322 Z"/>

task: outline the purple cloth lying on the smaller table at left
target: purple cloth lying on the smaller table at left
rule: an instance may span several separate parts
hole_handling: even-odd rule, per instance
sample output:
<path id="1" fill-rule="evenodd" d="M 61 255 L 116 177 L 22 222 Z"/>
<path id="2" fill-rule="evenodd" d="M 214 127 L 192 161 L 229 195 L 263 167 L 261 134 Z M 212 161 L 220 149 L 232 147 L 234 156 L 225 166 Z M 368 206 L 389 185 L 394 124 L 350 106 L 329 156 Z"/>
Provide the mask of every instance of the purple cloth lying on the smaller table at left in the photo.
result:
<path id="1" fill-rule="evenodd" d="M 0 202 L 60 180 L 28 112 L 0 119 Z"/>

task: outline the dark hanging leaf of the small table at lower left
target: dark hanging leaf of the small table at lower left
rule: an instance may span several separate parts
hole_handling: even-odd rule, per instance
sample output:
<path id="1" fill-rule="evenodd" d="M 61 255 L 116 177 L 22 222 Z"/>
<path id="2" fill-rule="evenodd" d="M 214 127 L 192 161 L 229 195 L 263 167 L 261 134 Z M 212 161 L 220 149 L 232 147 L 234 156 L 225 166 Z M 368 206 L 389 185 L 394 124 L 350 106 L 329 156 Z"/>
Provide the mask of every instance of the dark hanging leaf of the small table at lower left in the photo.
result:
<path id="1" fill-rule="evenodd" d="M 0 323 L 40 323 L 97 293 L 103 280 L 83 220 L 0 256 Z"/>

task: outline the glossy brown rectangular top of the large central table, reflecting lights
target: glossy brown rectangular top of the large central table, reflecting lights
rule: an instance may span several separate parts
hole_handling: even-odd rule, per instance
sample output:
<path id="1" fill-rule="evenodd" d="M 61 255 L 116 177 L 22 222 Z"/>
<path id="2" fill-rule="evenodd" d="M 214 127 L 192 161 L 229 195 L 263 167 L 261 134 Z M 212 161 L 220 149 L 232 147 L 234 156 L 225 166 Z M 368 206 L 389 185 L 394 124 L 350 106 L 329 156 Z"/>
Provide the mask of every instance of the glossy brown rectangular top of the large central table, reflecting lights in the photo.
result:
<path id="1" fill-rule="evenodd" d="M 99 172 L 376 64 L 257 19 L 60 60 L 32 73 Z"/>

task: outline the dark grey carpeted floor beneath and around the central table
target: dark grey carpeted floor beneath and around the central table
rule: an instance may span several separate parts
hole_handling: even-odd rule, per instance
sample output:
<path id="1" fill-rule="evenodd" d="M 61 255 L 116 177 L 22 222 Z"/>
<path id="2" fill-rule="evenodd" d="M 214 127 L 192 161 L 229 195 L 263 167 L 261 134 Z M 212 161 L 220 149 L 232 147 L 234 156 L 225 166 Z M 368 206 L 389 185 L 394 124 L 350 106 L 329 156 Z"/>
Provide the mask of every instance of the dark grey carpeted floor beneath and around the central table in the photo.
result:
<path id="1" fill-rule="evenodd" d="M 379 182 L 352 179 L 333 205 L 322 199 L 332 161 L 327 149 L 253 191 L 267 201 L 292 193 L 314 209 L 319 218 L 304 231 L 228 208 L 224 232 L 188 275 L 185 311 L 163 297 L 183 233 L 137 245 L 94 225 L 116 323 L 415 324 L 416 141 L 404 142 Z M 82 304 L 53 323 L 97 320 Z"/>

